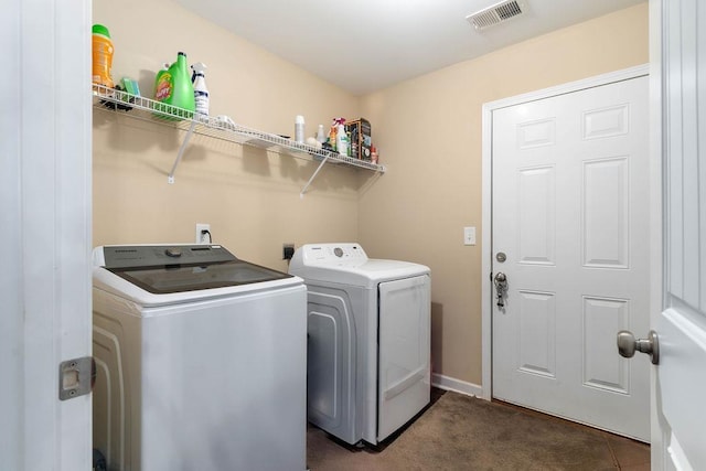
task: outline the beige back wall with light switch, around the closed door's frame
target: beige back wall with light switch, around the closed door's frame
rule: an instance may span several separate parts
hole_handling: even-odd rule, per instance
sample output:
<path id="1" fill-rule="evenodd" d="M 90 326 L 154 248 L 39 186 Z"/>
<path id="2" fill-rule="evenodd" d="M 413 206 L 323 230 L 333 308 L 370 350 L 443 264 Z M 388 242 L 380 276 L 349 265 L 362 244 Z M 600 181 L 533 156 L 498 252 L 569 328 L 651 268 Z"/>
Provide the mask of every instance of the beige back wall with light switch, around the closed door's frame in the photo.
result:
<path id="1" fill-rule="evenodd" d="M 643 3 L 364 97 L 389 170 L 361 195 L 359 238 L 431 267 L 437 373 L 481 384 L 482 105 L 648 61 Z M 463 246 L 463 226 L 479 245 Z"/>

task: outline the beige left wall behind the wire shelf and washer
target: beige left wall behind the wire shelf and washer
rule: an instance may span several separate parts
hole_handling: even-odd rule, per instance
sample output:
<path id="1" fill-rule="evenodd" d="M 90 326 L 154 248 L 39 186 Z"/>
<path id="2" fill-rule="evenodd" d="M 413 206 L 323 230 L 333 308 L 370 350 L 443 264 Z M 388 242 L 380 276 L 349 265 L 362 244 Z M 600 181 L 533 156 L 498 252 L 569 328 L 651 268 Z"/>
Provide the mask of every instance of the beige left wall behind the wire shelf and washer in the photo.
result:
<path id="1" fill-rule="evenodd" d="M 114 78 L 139 79 L 153 96 L 154 72 L 178 51 L 204 62 L 211 114 L 263 131 L 307 132 L 334 116 L 359 115 L 360 100 L 169 0 L 94 0 L 93 20 L 108 26 Z M 351 168 L 327 165 L 299 197 L 317 164 L 196 137 L 167 174 L 183 133 L 150 122 L 94 113 L 94 243 L 194 242 L 208 223 L 214 242 L 246 260 L 286 270 L 282 244 L 352 240 L 357 235 L 359 180 Z M 368 176 L 371 173 L 368 172 Z"/>

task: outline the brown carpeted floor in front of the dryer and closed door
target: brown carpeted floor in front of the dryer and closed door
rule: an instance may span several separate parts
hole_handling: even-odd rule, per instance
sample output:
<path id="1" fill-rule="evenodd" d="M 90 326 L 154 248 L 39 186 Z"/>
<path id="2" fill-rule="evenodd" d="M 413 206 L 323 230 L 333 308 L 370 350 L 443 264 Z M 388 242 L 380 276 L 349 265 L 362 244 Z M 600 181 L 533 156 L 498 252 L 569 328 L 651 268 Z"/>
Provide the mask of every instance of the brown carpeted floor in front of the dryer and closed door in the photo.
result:
<path id="1" fill-rule="evenodd" d="M 446 393 L 381 450 L 309 426 L 312 471 L 649 470 L 650 447 L 502 403 Z"/>

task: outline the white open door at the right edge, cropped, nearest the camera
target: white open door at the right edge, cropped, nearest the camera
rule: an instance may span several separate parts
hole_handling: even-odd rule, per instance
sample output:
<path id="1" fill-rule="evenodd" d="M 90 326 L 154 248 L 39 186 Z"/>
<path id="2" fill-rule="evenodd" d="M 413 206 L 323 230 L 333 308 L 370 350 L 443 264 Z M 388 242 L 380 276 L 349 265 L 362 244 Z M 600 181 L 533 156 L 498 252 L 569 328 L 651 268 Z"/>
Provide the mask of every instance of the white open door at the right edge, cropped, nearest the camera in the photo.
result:
<path id="1" fill-rule="evenodd" d="M 653 282 L 663 300 L 652 314 L 660 346 L 652 469 L 698 470 L 706 465 L 706 4 L 653 0 L 650 14 L 652 65 L 660 78 L 655 111 L 661 107 L 653 135 L 663 142 L 654 142 L 655 161 L 662 161 L 654 174 L 657 182 L 663 174 L 664 189 L 664 216 L 655 224 L 664 225 L 662 243 L 655 237 L 664 267 Z"/>

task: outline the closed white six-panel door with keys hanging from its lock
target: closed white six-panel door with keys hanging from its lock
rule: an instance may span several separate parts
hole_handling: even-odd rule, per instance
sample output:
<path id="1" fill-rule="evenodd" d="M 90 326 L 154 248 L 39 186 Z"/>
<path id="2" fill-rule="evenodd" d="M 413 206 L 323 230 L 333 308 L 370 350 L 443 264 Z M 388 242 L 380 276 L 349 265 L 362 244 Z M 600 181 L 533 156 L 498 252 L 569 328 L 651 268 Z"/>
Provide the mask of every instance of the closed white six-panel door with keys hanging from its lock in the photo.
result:
<path id="1" fill-rule="evenodd" d="M 644 441 L 649 358 L 645 76 L 493 111 L 493 396 Z M 504 261 L 500 254 L 504 254 Z"/>

